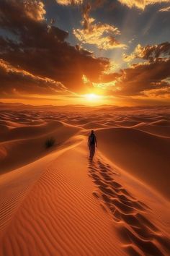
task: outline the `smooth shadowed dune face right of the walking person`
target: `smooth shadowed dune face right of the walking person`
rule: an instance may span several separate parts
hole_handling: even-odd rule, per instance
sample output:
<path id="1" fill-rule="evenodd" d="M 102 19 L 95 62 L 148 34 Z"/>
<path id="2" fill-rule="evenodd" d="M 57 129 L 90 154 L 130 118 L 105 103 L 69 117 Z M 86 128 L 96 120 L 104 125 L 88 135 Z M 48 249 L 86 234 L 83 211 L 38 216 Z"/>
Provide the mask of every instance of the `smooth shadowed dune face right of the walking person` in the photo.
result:
<path id="1" fill-rule="evenodd" d="M 97 135 L 104 155 L 169 197 L 170 139 L 129 128 L 100 129 Z"/>

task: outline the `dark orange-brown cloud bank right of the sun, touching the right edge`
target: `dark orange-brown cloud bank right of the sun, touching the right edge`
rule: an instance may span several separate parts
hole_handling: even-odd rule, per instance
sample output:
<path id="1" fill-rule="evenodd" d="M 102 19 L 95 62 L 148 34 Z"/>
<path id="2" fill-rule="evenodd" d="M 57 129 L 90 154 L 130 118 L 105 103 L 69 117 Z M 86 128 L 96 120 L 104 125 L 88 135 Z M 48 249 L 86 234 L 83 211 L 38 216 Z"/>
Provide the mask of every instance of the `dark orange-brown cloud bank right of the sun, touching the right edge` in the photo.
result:
<path id="1" fill-rule="evenodd" d="M 153 62 L 133 64 L 123 69 L 120 76 L 115 74 L 113 95 L 143 95 L 150 90 L 164 88 L 168 90 L 170 84 L 170 59 L 156 59 Z M 111 74 L 110 74 L 111 75 Z M 112 74 L 114 76 L 114 74 Z M 117 90 L 118 88 L 118 90 Z M 109 93 L 111 93 L 109 91 Z"/>

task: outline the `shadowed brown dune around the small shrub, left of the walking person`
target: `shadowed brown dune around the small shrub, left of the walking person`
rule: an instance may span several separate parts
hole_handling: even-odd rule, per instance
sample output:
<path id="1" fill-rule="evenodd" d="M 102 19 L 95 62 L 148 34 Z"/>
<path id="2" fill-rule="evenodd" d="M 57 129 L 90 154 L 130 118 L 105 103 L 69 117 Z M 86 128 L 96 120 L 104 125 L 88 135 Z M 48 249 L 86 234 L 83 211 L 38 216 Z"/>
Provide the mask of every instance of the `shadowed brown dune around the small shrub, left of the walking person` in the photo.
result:
<path id="1" fill-rule="evenodd" d="M 9 171 L 26 163 L 35 161 L 47 153 L 45 141 L 50 137 L 55 138 L 55 148 L 79 131 L 79 128 L 50 122 L 38 127 L 21 127 L 12 129 L 2 137 L 0 142 L 0 168 L 1 172 Z M 25 134 L 25 138 L 24 137 Z"/>

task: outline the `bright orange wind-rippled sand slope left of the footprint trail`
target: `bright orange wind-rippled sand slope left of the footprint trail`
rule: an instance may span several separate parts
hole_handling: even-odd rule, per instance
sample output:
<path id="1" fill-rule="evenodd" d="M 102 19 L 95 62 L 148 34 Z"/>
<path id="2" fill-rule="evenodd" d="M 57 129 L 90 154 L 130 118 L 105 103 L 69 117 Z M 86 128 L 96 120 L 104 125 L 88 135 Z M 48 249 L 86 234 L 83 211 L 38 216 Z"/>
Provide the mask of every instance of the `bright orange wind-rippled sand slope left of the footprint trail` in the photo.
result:
<path id="1" fill-rule="evenodd" d="M 22 192 L 22 202 L 15 199 L 5 204 L 4 212 L 10 203 L 16 204 L 16 210 L 2 233 L 1 255 L 111 255 L 113 249 L 125 255 L 112 244 L 112 221 L 92 195 L 84 150 L 68 148 L 58 158 L 55 154 L 53 160 L 50 155 L 45 158 L 45 169 L 35 176 L 31 189 Z M 38 164 L 42 166 L 41 160 Z M 22 176 L 21 170 L 17 172 Z"/>

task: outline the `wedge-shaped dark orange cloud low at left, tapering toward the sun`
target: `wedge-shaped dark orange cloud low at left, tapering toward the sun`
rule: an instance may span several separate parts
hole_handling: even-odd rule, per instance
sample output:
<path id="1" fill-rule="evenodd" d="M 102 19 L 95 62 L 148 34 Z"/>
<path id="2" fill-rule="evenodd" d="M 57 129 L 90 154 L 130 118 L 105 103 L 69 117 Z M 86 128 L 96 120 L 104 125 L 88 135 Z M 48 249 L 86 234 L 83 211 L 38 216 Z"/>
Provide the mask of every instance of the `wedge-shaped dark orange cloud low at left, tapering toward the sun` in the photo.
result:
<path id="1" fill-rule="evenodd" d="M 12 67 L 11 64 L 2 59 L 0 59 L 0 80 L 0 92 L 3 95 L 12 93 L 43 95 L 67 91 L 61 82 L 56 82 L 48 77 L 38 77 L 30 72 Z"/>

